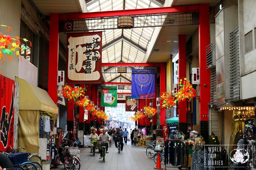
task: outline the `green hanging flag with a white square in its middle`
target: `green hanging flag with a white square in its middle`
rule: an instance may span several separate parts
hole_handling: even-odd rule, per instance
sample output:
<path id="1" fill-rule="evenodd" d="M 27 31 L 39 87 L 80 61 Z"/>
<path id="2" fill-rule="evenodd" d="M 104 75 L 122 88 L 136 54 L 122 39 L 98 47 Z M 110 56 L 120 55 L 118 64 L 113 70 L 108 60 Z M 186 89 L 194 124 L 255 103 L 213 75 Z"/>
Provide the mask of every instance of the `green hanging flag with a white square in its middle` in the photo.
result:
<path id="1" fill-rule="evenodd" d="M 100 106 L 101 107 L 117 106 L 117 87 L 102 86 Z"/>

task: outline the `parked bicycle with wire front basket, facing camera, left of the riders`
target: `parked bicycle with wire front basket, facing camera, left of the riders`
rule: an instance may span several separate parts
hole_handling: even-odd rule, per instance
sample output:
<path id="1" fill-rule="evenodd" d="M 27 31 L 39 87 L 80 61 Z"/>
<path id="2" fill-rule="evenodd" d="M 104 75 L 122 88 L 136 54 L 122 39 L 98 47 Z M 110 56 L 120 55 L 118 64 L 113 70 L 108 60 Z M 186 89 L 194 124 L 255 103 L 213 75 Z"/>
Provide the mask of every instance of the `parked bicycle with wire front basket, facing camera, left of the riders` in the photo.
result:
<path id="1" fill-rule="evenodd" d="M 78 154 L 78 147 L 74 147 L 74 144 L 78 144 L 74 142 L 69 147 L 65 147 L 68 149 L 69 155 L 64 159 L 64 167 L 66 170 L 79 170 L 80 169 L 80 160 L 76 155 Z"/>

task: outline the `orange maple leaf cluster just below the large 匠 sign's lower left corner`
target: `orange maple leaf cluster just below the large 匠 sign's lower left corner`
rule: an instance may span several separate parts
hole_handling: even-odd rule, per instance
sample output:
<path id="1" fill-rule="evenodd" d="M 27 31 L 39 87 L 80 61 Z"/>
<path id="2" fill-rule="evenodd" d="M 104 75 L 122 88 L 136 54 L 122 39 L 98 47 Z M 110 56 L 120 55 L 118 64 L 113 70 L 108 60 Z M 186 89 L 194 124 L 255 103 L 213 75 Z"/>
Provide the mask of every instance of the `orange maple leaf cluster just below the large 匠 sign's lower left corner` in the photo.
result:
<path id="1" fill-rule="evenodd" d="M 86 89 L 82 87 L 72 88 L 69 85 L 65 85 L 62 88 L 61 93 L 63 94 L 63 97 L 65 97 L 68 100 L 74 99 L 74 101 L 78 101 L 81 96 L 84 96 L 85 91 Z"/>

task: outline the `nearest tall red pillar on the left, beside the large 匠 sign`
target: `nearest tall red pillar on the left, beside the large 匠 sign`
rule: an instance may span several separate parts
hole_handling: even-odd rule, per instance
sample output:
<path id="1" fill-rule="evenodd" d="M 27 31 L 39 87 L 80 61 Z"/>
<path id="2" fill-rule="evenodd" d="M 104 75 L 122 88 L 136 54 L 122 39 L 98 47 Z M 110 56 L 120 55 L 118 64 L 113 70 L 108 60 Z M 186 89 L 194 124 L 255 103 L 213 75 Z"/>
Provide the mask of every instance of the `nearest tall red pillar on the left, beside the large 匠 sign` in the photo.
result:
<path id="1" fill-rule="evenodd" d="M 50 14 L 48 94 L 57 105 L 57 75 L 59 60 L 59 14 Z M 50 74 L 51 73 L 51 74 Z"/>

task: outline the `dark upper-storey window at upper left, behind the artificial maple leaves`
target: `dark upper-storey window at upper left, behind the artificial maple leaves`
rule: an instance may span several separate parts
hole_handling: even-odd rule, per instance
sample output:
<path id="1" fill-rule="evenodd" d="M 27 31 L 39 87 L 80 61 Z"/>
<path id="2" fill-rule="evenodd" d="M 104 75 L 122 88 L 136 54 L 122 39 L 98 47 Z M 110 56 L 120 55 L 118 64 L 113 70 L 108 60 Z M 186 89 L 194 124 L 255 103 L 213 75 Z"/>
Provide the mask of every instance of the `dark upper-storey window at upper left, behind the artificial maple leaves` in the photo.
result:
<path id="1" fill-rule="evenodd" d="M 32 32 L 30 28 L 28 28 L 28 26 L 22 20 L 20 21 L 20 38 L 26 38 L 27 40 L 31 41 L 33 46 L 35 45 L 34 44 L 35 34 Z M 32 63 L 32 60 L 35 54 L 34 54 L 34 48 L 33 46 L 30 47 L 29 41 L 25 42 L 22 39 L 20 40 L 21 49 L 22 49 L 20 50 L 20 55 Z M 24 46 L 27 49 L 23 49 Z"/>

